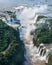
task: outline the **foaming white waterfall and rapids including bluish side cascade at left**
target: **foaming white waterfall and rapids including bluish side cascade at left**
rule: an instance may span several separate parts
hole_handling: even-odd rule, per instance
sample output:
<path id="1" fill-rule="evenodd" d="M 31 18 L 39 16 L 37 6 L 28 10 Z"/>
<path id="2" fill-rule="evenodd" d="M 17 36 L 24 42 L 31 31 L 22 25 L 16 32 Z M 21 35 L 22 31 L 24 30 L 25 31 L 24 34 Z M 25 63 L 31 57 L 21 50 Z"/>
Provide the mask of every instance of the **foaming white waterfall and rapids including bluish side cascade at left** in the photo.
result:
<path id="1" fill-rule="evenodd" d="M 15 7 L 15 14 L 19 22 L 13 18 L 11 21 L 8 14 L 3 14 L 5 17 L 1 17 L 3 22 L 7 25 L 16 30 L 17 28 L 19 29 L 20 39 L 23 41 L 26 50 L 24 54 L 24 65 L 36 65 L 37 60 L 48 63 L 48 54 L 52 48 L 47 49 L 43 44 L 40 44 L 39 47 L 35 46 L 35 43 L 33 43 L 34 35 L 31 35 L 30 33 L 35 31 L 37 28 L 35 24 L 45 23 L 46 19 L 52 18 L 51 11 L 51 6 L 48 5 L 39 5 L 34 7 L 17 6 Z M 46 18 L 42 18 L 37 21 L 38 16 L 44 16 Z M 17 24 L 15 22 L 17 22 Z M 43 47 L 40 49 L 41 45 Z"/>

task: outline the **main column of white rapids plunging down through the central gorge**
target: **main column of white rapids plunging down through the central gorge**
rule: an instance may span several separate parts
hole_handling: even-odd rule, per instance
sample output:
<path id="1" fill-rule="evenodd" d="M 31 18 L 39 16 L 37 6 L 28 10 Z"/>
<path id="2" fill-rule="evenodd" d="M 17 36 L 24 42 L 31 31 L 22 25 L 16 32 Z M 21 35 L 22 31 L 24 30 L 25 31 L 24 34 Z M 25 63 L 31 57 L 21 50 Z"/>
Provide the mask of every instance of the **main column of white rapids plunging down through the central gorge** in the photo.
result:
<path id="1" fill-rule="evenodd" d="M 46 54 L 44 51 L 42 56 L 40 56 L 41 50 L 39 50 L 33 44 L 33 35 L 31 35 L 31 31 L 36 29 L 34 25 L 37 22 L 37 18 L 40 15 L 44 15 L 47 17 L 51 16 L 51 9 L 47 5 L 26 7 L 26 6 L 18 6 L 15 7 L 17 19 L 20 20 L 19 33 L 20 39 L 24 42 L 26 52 L 24 54 L 26 61 L 24 65 L 35 65 L 36 60 L 44 60 L 46 63 L 48 62 L 48 51 L 46 50 Z M 39 21 L 39 23 L 43 23 L 44 20 Z M 15 24 L 10 24 L 9 26 L 15 27 Z M 45 48 L 43 48 L 45 50 Z M 39 52 L 38 52 L 39 50 Z"/>

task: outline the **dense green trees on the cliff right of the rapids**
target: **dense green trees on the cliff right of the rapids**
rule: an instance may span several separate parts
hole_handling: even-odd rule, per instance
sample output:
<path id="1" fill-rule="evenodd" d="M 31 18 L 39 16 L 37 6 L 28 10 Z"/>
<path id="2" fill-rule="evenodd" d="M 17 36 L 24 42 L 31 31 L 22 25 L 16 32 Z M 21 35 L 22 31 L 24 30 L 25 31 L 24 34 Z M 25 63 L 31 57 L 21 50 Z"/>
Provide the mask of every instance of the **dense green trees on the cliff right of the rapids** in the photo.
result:
<path id="1" fill-rule="evenodd" d="M 37 43 L 52 43 L 52 19 L 46 19 L 44 23 L 37 24 L 34 35 Z"/>

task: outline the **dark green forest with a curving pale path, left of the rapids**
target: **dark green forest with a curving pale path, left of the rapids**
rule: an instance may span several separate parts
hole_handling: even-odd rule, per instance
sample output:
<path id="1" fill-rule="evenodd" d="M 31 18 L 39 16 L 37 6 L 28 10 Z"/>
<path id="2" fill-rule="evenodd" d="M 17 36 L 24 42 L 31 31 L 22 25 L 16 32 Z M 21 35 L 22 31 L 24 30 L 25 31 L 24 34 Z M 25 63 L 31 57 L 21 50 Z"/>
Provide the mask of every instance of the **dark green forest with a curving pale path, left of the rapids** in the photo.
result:
<path id="1" fill-rule="evenodd" d="M 24 45 L 19 38 L 19 31 L 0 20 L 0 65 L 22 65 Z"/>

